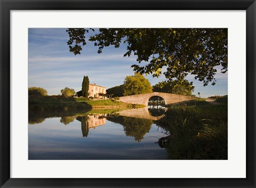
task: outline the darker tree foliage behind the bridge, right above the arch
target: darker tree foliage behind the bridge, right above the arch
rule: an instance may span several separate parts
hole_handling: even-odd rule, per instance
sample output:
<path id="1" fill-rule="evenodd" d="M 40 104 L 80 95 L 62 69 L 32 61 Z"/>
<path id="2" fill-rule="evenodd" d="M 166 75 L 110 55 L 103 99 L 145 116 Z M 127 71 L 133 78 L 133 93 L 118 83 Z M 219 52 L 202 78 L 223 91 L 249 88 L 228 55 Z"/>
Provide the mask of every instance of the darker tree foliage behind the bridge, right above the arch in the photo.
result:
<path id="1" fill-rule="evenodd" d="M 174 81 L 159 82 L 153 86 L 154 92 L 166 92 L 179 95 L 192 95 L 194 86 L 188 81 L 173 83 Z"/>

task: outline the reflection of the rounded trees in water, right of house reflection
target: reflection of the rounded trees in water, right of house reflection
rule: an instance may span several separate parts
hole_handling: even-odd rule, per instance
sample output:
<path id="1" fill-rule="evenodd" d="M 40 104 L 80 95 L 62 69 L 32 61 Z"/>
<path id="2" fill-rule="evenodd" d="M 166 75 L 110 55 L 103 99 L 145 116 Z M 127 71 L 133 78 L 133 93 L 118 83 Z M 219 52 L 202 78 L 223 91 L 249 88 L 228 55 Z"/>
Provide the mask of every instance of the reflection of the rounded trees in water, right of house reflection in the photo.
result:
<path id="1" fill-rule="evenodd" d="M 107 117 L 108 121 L 123 125 L 126 136 L 132 136 L 135 141 L 140 142 L 146 133 L 149 132 L 153 121 L 134 117 Z"/>

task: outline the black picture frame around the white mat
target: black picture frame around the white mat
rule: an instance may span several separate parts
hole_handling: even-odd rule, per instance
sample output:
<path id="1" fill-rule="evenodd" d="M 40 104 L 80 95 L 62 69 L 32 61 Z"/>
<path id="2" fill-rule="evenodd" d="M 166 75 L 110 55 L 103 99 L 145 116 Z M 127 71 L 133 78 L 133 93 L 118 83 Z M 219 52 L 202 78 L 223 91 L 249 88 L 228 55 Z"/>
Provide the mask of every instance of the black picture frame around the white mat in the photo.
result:
<path id="1" fill-rule="evenodd" d="M 0 187 L 255 187 L 254 0 L 0 0 Z M 246 178 L 10 178 L 11 10 L 246 10 Z"/>

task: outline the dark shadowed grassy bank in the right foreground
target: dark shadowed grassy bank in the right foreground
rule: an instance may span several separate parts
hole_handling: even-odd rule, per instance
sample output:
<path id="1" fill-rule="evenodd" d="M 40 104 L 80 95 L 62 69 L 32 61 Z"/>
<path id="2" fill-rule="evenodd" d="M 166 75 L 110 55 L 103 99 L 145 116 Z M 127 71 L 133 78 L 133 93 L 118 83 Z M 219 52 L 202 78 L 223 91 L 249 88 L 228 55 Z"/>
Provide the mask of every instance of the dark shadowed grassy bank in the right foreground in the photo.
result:
<path id="1" fill-rule="evenodd" d="M 169 107 L 156 122 L 169 135 L 164 148 L 170 159 L 228 159 L 228 98 L 218 105 L 204 100 Z"/>

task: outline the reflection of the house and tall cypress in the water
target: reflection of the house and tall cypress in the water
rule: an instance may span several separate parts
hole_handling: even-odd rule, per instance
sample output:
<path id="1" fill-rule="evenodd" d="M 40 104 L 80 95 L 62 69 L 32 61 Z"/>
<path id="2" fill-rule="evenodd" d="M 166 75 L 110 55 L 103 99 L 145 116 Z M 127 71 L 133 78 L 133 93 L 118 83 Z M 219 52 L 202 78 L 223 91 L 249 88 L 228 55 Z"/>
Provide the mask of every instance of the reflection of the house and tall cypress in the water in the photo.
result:
<path id="1" fill-rule="evenodd" d="M 87 116 L 78 116 L 76 119 L 81 122 L 83 137 L 88 135 L 90 128 L 95 129 L 95 127 L 106 123 L 105 114 L 89 114 Z"/>

